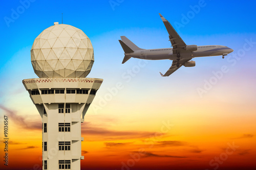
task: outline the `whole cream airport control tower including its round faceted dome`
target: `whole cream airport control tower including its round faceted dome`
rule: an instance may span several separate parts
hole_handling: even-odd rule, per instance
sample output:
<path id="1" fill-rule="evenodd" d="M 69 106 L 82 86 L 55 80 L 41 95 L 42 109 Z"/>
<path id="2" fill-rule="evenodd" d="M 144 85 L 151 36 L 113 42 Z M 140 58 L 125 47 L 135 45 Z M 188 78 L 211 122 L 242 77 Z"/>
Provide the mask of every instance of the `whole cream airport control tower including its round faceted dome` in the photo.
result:
<path id="1" fill-rule="evenodd" d="M 31 62 L 39 79 L 23 84 L 42 118 L 42 169 L 80 169 L 81 123 L 103 81 L 86 78 L 92 43 L 80 29 L 54 22 L 36 37 Z"/>

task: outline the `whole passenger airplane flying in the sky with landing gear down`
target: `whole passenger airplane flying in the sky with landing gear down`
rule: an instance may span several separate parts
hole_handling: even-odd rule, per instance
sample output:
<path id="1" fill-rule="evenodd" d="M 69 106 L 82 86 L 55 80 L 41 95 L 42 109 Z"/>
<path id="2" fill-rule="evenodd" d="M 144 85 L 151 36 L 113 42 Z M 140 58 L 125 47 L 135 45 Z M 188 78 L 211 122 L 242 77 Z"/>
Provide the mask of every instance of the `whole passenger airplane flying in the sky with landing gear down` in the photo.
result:
<path id="1" fill-rule="evenodd" d="M 173 60 L 172 66 L 164 75 L 160 72 L 161 76 L 165 77 L 173 74 L 182 65 L 185 67 L 196 66 L 195 61 L 190 61 L 192 58 L 221 55 L 224 58 L 224 56 L 233 52 L 231 48 L 223 45 L 186 45 L 172 25 L 160 13 L 159 15 L 169 33 L 169 41 L 172 43 L 172 47 L 146 50 L 139 48 L 125 36 L 121 36 L 122 40 L 119 40 L 119 42 L 124 51 L 122 64 L 131 57 L 145 60 Z"/>

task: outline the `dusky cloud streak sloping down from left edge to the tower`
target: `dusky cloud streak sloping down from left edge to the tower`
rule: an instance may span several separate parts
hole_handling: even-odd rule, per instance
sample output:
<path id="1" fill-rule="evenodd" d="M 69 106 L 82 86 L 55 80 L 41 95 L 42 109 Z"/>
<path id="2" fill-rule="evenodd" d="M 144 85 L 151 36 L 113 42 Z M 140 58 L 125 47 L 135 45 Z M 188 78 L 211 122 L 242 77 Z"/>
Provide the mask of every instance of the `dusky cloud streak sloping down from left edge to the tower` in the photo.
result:
<path id="1" fill-rule="evenodd" d="M 29 130 L 41 130 L 42 129 L 42 123 L 41 122 L 32 122 L 30 120 L 26 120 L 25 116 L 22 115 L 17 115 L 15 111 L 12 111 L 8 108 L 6 108 L 3 105 L 0 105 L 0 109 L 4 110 L 7 112 L 7 116 L 13 124 L 24 128 L 24 129 L 29 129 Z"/>

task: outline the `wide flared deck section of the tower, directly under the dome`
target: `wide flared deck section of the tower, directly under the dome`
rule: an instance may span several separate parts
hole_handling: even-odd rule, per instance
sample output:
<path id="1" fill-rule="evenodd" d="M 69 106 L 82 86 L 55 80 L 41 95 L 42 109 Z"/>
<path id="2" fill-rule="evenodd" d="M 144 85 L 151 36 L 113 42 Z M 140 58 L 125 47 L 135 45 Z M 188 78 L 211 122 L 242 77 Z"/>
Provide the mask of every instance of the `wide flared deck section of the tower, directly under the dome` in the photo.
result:
<path id="1" fill-rule="evenodd" d="M 23 84 L 34 104 L 91 104 L 102 81 L 96 78 L 38 78 L 25 79 Z"/>

